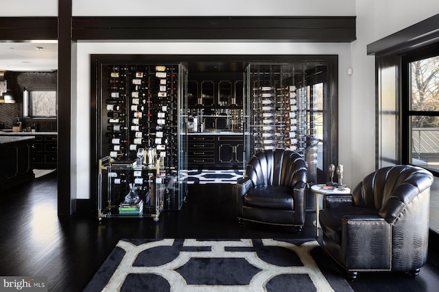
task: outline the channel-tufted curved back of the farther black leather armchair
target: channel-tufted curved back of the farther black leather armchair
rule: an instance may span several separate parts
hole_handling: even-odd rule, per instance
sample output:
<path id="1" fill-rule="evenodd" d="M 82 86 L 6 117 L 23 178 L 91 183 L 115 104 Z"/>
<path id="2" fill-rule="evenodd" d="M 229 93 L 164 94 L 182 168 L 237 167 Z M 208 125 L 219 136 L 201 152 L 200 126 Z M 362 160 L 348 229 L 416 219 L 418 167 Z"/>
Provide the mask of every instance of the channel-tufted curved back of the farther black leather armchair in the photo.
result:
<path id="1" fill-rule="evenodd" d="M 298 152 L 259 151 L 248 161 L 246 176 L 253 186 L 282 185 L 293 189 L 298 181 L 307 183 L 307 165 Z"/>

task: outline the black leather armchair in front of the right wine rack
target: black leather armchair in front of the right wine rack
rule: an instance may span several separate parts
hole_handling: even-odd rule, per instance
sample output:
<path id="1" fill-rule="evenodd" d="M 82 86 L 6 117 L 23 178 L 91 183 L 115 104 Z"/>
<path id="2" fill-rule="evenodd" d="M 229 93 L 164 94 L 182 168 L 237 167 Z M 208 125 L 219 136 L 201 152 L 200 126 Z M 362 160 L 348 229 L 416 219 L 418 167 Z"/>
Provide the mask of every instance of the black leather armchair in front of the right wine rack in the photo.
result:
<path id="1" fill-rule="evenodd" d="M 307 165 L 294 151 L 257 152 L 237 182 L 237 217 L 244 220 L 294 226 L 305 223 Z"/>

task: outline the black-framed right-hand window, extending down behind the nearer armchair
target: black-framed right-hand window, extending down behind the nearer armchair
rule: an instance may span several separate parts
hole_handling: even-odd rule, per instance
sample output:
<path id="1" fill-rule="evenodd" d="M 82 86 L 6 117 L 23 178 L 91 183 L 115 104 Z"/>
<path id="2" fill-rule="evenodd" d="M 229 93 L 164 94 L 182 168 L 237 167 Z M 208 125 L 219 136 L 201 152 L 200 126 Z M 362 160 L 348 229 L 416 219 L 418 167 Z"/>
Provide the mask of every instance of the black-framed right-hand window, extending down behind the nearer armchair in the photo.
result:
<path id="1" fill-rule="evenodd" d="M 439 233 L 439 45 L 403 57 L 401 118 L 402 163 L 434 175 L 430 188 L 429 228 Z"/>

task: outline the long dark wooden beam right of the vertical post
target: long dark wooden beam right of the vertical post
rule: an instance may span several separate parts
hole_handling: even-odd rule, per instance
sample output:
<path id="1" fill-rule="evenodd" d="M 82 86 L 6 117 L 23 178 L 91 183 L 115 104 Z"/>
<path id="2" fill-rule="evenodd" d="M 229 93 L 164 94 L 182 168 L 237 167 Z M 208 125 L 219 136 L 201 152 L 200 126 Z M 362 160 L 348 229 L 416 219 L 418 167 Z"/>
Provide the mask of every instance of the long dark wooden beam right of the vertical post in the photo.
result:
<path id="1" fill-rule="evenodd" d="M 352 42 L 355 16 L 74 17 L 73 40 Z"/>

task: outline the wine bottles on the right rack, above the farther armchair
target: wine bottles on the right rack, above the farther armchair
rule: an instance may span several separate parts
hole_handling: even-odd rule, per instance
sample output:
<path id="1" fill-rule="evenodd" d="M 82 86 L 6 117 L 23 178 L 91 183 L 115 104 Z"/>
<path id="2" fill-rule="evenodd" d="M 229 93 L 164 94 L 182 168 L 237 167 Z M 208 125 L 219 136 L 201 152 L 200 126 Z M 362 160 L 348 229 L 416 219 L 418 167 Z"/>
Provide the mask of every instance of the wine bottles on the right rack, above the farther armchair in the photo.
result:
<path id="1" fill-rule="evenodd" d="M 297 96 L 295 85 L 253 88 L 254 151 L 285 148 L 304 152 L 306 146 L 306 99 Z"/>

